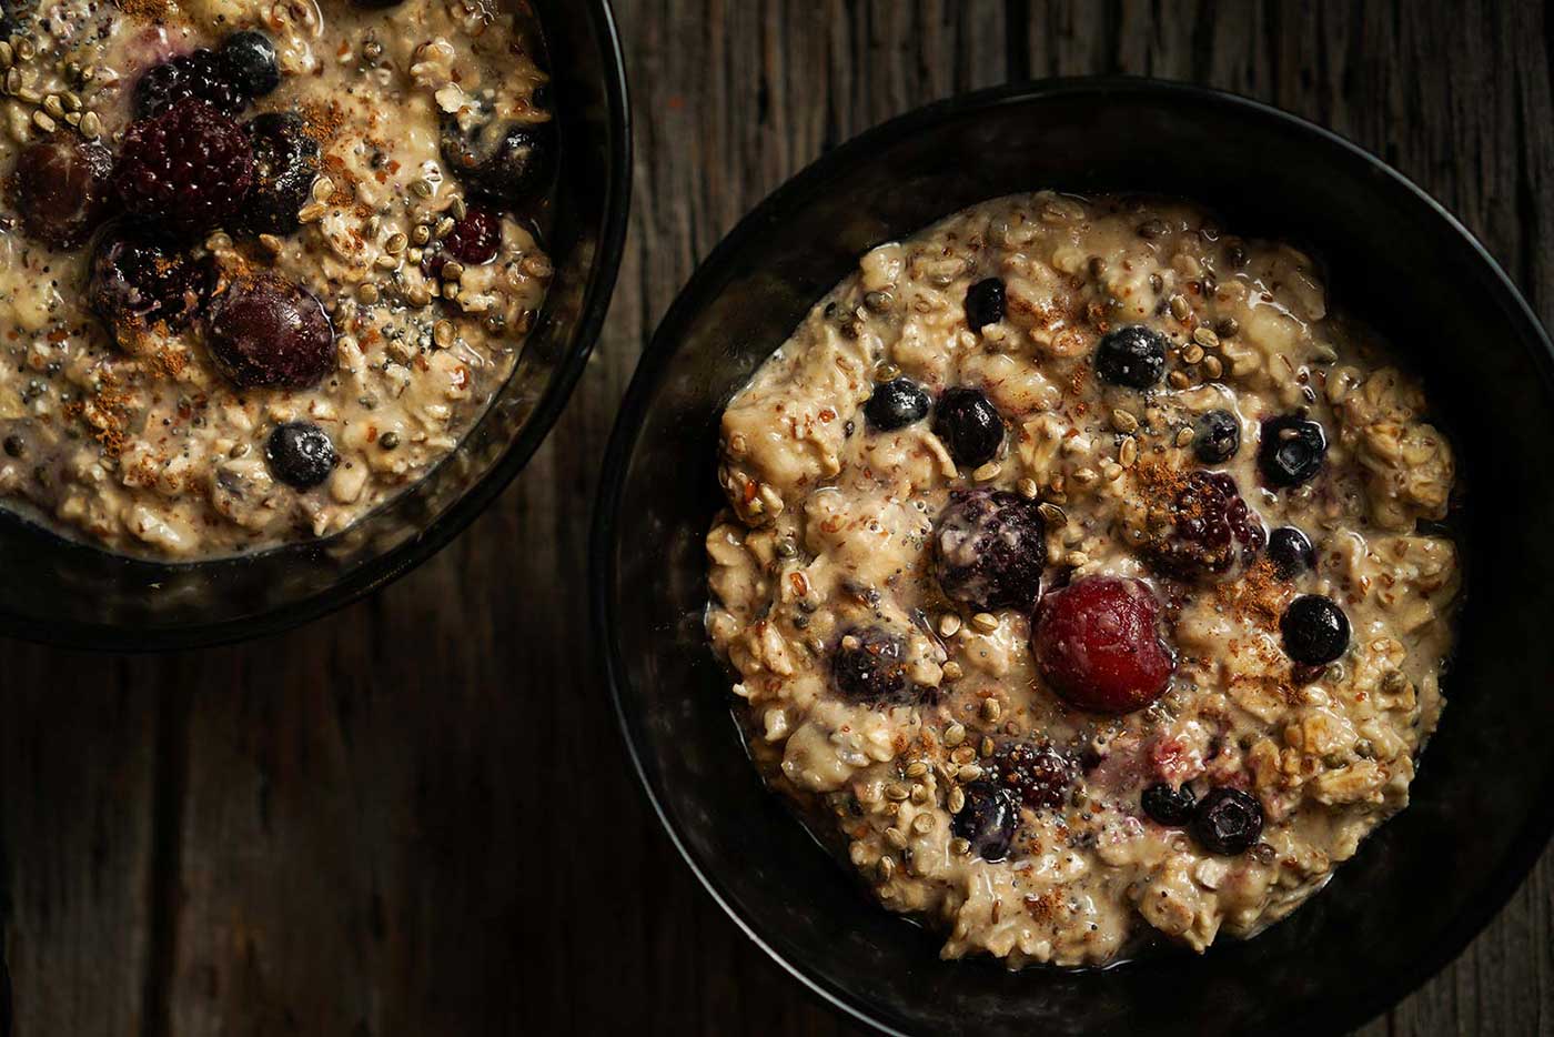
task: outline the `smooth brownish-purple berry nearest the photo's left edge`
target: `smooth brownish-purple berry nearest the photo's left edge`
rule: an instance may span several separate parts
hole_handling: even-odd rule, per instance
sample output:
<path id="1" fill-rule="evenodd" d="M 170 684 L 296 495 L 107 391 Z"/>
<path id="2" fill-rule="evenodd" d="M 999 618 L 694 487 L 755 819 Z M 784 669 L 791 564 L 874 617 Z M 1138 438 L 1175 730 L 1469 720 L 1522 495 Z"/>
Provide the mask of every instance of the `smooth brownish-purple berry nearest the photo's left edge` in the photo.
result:
<path id="1" fill-rule="evenodd" d="M 76 134 L 28 145 L 11 180 L 22 229 L 56 249 L 84 243 L 107 215 L 113 154 Z"/>

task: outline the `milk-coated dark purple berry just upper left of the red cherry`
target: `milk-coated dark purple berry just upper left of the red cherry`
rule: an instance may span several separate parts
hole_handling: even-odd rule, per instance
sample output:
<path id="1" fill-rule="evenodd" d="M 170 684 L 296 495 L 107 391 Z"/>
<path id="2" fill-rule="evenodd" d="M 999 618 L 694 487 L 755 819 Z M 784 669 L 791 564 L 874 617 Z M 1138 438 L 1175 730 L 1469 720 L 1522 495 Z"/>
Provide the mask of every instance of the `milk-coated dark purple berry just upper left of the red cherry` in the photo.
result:
<path id="1" fill-rule="evenodd" d="M 934 569 L 945 597 L 979 609 L 1029 609 L 1047 564 L 1035 501 L 1005 490 L 957 490 L 939 516 Z"/>

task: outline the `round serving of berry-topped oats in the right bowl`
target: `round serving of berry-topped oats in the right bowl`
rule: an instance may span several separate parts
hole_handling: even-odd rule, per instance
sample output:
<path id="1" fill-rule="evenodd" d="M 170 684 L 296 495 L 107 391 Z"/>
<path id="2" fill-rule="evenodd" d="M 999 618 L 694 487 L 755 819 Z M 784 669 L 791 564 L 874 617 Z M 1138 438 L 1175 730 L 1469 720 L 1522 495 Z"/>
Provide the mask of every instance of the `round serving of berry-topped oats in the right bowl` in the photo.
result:
<path id="1" fill-rule="evenodd" d="M 977 205 L 869 252 L 721 452 L 707 628 L 752 757 L 946 958 L 1251 936 L 1408 804 L 1453 454 L 1296 249 Z"/>

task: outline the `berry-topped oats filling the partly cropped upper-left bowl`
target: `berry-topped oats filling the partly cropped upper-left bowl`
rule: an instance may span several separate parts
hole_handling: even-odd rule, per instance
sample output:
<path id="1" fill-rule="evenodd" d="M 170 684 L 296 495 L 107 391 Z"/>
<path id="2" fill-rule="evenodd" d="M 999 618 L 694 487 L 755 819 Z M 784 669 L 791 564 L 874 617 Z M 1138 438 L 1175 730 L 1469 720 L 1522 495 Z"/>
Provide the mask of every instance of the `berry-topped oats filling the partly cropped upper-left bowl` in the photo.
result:
<path id="1" fill-rule="evenodd" d="M 503 0 L 6 0 L 0 507 L 197 560 L 446 459 L 550 278 Z"/>

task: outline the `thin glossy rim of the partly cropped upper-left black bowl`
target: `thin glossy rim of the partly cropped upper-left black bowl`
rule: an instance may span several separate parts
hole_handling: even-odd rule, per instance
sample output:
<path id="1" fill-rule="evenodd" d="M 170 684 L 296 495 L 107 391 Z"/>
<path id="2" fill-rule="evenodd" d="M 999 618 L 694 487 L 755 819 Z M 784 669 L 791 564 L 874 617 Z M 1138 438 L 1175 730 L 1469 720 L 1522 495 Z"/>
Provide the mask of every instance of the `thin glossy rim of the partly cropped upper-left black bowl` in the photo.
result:
<path id="1" fill-rule="evenodd" d="M 572 348 L 559 359 L 539 401 L 519 434 L 508 443 L 490 471 L 465 491 L 446 512 L 415 536 L 373 558 L 326 589 L 300 602 L 272 608 L 256 616 L 227 619 L 185 630 L 146 631 L 115 623 L 45 623 L 26 616 L 5 616 L 5 634 L 20 641 L 89 651 L 148 653 L 211 648 L 239 641 L 269 637 L 345 608 L 381 591 L 446 547 L 491 505 L 514 476 L 522 471 L 545 442 L 577 387 L 594 351 L 614 297 L 615 280 L 625 255 L 631 218 L 632 118 L 631 92 L 620 31 L 609 0 L 586 0 L 594 20 L 594 40 L 600 48 L 611 132 L 609 166 L 601 235 L 595 260 L 583 286 L 583 306 L 573 331 Z M 47 530 L 45 530 L 47 532 Z M 93 549 L 90 544 L 87 549 Z M 141 561 L 141 560 L 132 560 Z M 228 560 L 218 560 L 228 561 Z M 180 563 L 169 563 L 179 566 Z M 199 566 L 202 563 L 182 563 Z"/>

